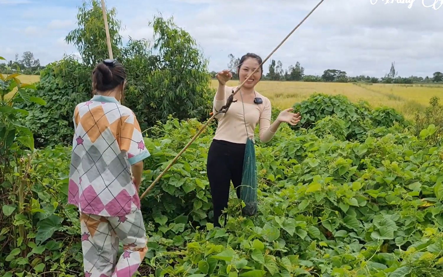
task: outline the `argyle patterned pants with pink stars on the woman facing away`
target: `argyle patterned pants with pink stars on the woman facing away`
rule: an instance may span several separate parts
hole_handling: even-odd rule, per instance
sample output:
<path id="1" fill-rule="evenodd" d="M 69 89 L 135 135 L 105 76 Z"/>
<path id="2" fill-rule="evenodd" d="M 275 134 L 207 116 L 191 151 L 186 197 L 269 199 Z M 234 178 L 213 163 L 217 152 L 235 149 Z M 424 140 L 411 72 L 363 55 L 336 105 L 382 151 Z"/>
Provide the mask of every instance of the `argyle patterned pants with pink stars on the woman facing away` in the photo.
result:
<path id="1" fill-rule="evenodd" d="M 132 277 L 146 251 L 140 210 L 121 217 L 80 214 L 85 277 Z M 120 240 L 123 254 L 117 261 Z"/>

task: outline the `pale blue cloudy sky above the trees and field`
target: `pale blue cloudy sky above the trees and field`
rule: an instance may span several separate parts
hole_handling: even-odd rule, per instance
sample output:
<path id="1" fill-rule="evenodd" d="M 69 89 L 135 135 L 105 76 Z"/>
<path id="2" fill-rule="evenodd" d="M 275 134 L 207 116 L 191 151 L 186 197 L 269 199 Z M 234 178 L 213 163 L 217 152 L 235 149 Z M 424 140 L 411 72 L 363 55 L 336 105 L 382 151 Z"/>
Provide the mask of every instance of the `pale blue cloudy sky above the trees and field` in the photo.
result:
<path id="1" fill-rule="evenodd" d="M 108 8 L 117 8 L 124 38 L 151 39 L 148 21 L 158 12 L 174 16 L 216 71 L 227 67 L 230 53 L 255 52 L 265 58 L 318 2 L 105 0 Z M 299 61 L 305 74 L 321 75 L 330 68 L 382 77 L 394 61 L 401 76 L 443 71 L 443 7 L 424 7 L 434 0 L 416 0 L 411 8 L 397 1 L 370 2 L 325 0 L 271 59 L 281 60 L 284 69 Z M 45 65 L 77 53 L 64 38 L 76 27 L 80 5 L 81 0 L 0 0 L 0 55 L 9 60 L 31 51 Z M 264 67 L 267 72 L 268 62 Z"/>

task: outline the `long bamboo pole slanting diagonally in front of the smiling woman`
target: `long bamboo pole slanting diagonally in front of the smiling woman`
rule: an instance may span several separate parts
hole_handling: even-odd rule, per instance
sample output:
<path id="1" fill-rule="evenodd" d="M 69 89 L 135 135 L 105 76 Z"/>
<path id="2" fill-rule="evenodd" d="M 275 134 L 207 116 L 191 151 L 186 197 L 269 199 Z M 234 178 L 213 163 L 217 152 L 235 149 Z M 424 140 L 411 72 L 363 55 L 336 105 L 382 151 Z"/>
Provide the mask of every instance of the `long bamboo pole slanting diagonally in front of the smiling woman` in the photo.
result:
<path id="1" fill-rule="evenodd" d="M 103 0 L 102 0 L 103 1 Z M 232 96 L 235 95 L 240 89 L 241 87 L 245 84 L 245 82 L 251 77 L 253 76 L 257 70 L 260 69 L 260 66 L 262 66 L 264 64 L 264 62 L 266 62 L 271 56 L 272 54 L 274 54 L 278 48 L 280 48 L 280 46 L 292 35 L 292 33 L 294 33 L 295 30 L 297 30 L 297 28 L 315 11 L 316 8 L 318 8 L 320 6 L 320 4 L 323 3 L 324 0 L 320 0 L 320 2 L 315 5 L 315 7 L 311 10 L 311 12 L 309 12 L 302 21 L 300 21 L 300 23 L 297 24 L 297 26 L 295 26 L 294 29 L 292 29 L 291 32 L 289 32 L 289 34 L 279 43 L 279 45 L 277 45 L 277 47 L 268 55 L 268 57 L 266 57 L 266 59 L 264 59 L 259 66 L 257 66 L 257 68 L 253 71 L 253 73 L 249 74 L 248 77 L 246 77 L 245 81 L 243 81 L 240 86 L 237 87 L 237 90 L 235 90 L 235 92 L 233 92 Z M 230 103 L 226 103 L 225 107 L 229 108 L 229 105 L 232 103 L 232 101 Z M 203 132 L 204 129 L 206 129 L 206 127 L 209 125 L 210 121 L 212 121 L 219 113 L 221 113 L 222 110 L 218 111 L 217 113 L 214 113 L 209 120 L 206 122 L 205 125 L 203 125 L 203 127 L 194 135 L 194 137 L 186 144 L 186 146 L 182 149 L 182 151 L 180 151 L 177 156 L 175 156 L 175 158 L 171 161 L 171 163 L 168 164 L 168 166 L 165 168 L 165 170 L 163 170 L 163 172 L 157 176 L 157 178 L 154 180 L 154 182 L 151 183 L 151 185 L 146 189 L 146 191 L 144 191 L 144 193 L 140 196 L 140 199 L 144 198 L 144 196 L 146 196 L 148 194 L 149 191 L 152 190 L 152 188 L 154 187 L 155 183 L 157 183 L 160 178 L 168 171 L 169 168 L 171 168 L 172 164 L 175 163 L 176 160 L 178 160 L 178 158 L 183 154 L 183 152 L 185 152 L 185 150 L 194 142 L 194 140 Z"/>

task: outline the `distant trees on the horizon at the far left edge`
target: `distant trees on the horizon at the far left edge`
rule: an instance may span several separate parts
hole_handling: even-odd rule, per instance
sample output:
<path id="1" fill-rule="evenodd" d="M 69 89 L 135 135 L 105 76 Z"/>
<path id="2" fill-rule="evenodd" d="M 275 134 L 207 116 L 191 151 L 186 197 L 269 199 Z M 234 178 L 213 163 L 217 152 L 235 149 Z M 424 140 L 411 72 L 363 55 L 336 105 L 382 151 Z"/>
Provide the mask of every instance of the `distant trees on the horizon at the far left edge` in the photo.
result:
<path id="1" fill-rule="evenodd" d="M 34 58 L 30 51 L 23 52 L 22 59 L 19 60 L 19 54 L 16 54 L 14 61 L 0 63 L 0 73 L 11 74 L 20 71 L 23 74 L 40 74 L 40 70 L 45 68 L 40 65 L 39 59 Z"/>

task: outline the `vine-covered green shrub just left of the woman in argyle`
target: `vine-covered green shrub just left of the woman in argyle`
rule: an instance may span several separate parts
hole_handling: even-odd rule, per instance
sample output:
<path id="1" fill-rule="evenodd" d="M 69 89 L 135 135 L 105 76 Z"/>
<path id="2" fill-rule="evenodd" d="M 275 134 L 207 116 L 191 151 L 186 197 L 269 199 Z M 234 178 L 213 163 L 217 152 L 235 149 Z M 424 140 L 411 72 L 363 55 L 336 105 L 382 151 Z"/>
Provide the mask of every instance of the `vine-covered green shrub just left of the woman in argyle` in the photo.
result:
<path id="1" fill-rule="evenodd" d="M 35 146 L 70 144 L 75 105 L 92 96 L 91 71 L 72 56 L 67 56 L 42 70 L 36 88 L 36 94 L 47 104 L 23 103 L 21 106 L 29 111 L 24 122 L 34 133 Z"/>

